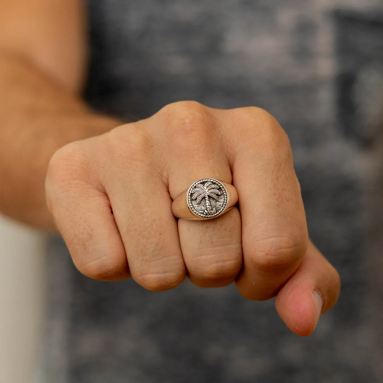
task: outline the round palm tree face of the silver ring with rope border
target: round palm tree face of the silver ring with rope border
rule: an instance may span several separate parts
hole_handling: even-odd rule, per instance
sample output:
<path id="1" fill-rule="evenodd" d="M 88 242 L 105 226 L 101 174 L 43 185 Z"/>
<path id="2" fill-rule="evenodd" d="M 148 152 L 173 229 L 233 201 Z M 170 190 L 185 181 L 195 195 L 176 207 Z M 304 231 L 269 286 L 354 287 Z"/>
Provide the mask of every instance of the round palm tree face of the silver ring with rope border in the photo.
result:
<path id="1" fill-rule="evenodd" d="M 228 192 L 223 184 L 214 178 L 198 180 L 188 190 L 187 205 L 200 218 L 214 218 L 223 213 L 228 205 Z"/>

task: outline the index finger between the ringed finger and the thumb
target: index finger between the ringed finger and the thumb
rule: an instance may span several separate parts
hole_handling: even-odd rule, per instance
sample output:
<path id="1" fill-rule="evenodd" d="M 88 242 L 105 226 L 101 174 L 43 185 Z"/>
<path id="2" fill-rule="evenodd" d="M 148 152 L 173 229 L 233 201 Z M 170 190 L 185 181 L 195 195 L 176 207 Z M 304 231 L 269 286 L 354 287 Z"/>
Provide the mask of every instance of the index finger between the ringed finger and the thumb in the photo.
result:
<path id="1" fill-rule="evenodd" d="M 271 115 L 245 108 L 233 110 L 228 121 L 239 129 L 231 141 L 244 256 L 237 289 L 246 298 L 266 300 L 291 277 L 307 250 L 300 185 L 288 137 Z"/>

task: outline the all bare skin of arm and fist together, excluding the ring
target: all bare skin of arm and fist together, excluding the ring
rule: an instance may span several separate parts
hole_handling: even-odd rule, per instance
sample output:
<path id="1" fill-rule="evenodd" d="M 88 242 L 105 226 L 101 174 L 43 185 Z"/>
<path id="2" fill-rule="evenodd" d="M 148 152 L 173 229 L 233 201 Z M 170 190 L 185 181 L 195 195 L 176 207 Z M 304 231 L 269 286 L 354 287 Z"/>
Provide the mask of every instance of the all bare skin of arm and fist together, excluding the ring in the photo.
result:
<path id="1" fill-rule="evenodd" d="M 80 97 L 85 25 L 76 0 L 0 2 L 2 213 L 57 228 L 91 278 L 132 277 L 149 290 L 187 276 L 235 282 L 245 298 L 277 296 L 291 331 L 311 334 L 340 283 L 309 241 L 283 129 L 259 108 L 193 101 L 136 123 L 97 115 Z M 202 177 L 232 183 L 238 206 L 177 220 L 172 200 Z"/>

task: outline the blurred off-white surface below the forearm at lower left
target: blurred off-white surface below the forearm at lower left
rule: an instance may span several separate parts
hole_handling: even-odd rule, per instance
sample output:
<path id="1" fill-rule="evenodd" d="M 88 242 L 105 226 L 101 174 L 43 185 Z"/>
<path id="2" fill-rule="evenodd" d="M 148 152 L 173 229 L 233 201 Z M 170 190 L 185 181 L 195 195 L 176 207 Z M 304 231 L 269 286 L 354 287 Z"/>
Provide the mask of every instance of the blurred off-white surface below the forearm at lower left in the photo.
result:
<path id="1" fill-rule="evenodd" d="M 46 237 L 0 216 L 0 382 L 36 381 Z"/>

